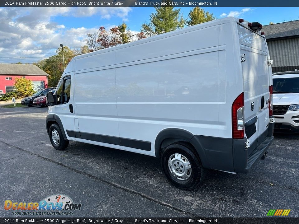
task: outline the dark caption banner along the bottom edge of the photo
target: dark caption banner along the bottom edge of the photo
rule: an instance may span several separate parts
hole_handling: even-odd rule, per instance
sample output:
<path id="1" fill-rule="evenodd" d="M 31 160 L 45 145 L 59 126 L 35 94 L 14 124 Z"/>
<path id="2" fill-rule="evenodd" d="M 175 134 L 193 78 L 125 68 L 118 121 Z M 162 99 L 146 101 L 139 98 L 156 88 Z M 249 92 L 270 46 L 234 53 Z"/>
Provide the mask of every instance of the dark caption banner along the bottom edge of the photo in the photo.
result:
<path id="1" fill-rule="evenodd" d="M 217 223 L 217 224 L 297 224 L 299 218 L 0 218 L 0 223 Z"/>

